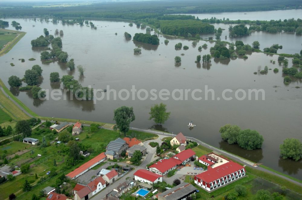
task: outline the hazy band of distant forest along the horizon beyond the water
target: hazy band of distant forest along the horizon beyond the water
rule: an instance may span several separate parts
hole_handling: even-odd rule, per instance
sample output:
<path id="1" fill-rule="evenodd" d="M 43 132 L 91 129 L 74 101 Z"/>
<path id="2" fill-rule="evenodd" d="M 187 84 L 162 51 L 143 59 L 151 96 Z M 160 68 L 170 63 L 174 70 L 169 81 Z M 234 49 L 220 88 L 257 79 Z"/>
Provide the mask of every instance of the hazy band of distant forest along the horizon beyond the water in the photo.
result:
<path id="1" fill-rule="evenodd" d="M 36 3 L 37 4 L 37 3 Z M 238 11 L 268 11 L 302 8 L 300 0 L 168 0 L 144 2 L 101 2 L 90 5 L 66 7 L 34 7 L 34 3 L 1 3 L 0 16 L 5 17 L 101 17 L 121 19 L 157 18 L 164 14 L 212 13 Z"/>

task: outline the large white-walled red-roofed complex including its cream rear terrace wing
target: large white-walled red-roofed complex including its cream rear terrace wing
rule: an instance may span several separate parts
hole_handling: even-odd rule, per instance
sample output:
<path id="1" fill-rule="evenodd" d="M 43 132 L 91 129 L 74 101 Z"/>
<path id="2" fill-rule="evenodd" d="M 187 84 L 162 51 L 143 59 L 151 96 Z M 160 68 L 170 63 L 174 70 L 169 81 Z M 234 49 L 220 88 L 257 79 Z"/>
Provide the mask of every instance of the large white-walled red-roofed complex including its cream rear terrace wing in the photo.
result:
<path id="1" fill-rule="evenodd" d="M 212 157 L 212 158 L 208 158 Z M 217 161 L 213 160 L 215 158 Z M 230 161 L 216 154 L 201 156 L 199 161 L 207 163 L 207 171 L 194 176 L 194 183 L 201 188 L 212 191 L 234 182 L 245 176 L 245 168 L 238 163 Z"/>

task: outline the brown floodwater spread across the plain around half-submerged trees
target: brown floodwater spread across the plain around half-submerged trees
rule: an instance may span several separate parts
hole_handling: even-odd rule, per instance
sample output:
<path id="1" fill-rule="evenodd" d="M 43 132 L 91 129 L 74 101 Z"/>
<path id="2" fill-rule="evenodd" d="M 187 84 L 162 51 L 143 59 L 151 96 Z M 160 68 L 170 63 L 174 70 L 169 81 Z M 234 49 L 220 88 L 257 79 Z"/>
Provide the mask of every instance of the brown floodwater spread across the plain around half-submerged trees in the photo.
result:
<path id="1" fill-rule="evenodd" d="M 30 69 L 34 64 L 39 64 L 43 69 L 43 78 L 41 78 L 43 89 L 62 88 L 62 85 L 50 84 L 49 81 L 51 72 L 59 72 L 60 77 L 67 74 L 74 76 L 82 86 L 91 85 L 95 89 L 104 89 L 109 85 L 110 89 L 115 89 L 118 93 L 121 89 L 130 91 L 134 85 L 137 91 L 146 89 L 149 95 L 146 100 L 140 100 L 134 95 L 135 100 L 132 100 L 132 93 L 130 93 L 128 100 L 119 98 L 114 100 L 113 92 L 110 94 L 107 92 L 106 95 L 109 95 L 110 100 L 106 100 L 106 96 L 102 101 L 93 104 L 93 101 L 71 100 L 69 95 L 67 100 L 33 100 L 30 92 L 11 89 L 14 95 L 35 113 L 55 118 L 114 123 L 114 109 L 123 105 L 133 106 L 136 120 L 131 123 L 132 127 L 156 128 L 175 134 L 182 132 L 215 147 L 302 179 L 302 161 L 283 160 L 279 157 L 279 145 L 285 138 L 302 140 L 302 89 L 295 88 L 302 87 L 302 83 L 300 80 L 293 80 L 288 86 L 283 84 L 282 67 L 277 62 L 278 56 L 249 53 L 249 58 L 246 60 L 212 59 L 210 64 L 196 64 L 194 63 L 196 56 L 209 54 L 210 47 L 214 43 L 199 41 L 196 47 L 192 47 L 192 41 L 167 38 L 169 44 L 165 45 L 163 42 L 166 38 L 162 36 L 159 36 L 158 46 L 127 41 L 124 38 L 125 31 L 134 36 L 135 33 L 145 33 L 146 30 L 135 26 L 129 27 L 127 22 L 121 21 L 93 20 L 98 27 L 97 30 L 93 30 L 86 26 L 41 23 L 29 19 L 5 20 L 16 20 L 21 23 L 22 31 L 27 32 L 8 54 L 0 57 L 0 78 L 7 86 L 9 76 L 23 77 L 25 70 Z M 50 34 L 53 34 L 55 29 L 64 31 L 63 51 L 67 51 L 70 58 L 75 59 L 76 65 L 83 65 L 84 77 L 79 76 L 76 70 L 69 71 L 65 64 L 57 62 L 43 64 L 40 61 L 41 49 L 32 48 L 30 41 L 43 34 L 43 28 L 47 28 Z M 285 36 L 284 42 L 279 42 L 284 45 L 284 48 L 288 43 Z M 260 44 L 266 39 L 262 35 L 257 38 Z M 292 42 L 292 40 L 288 41 Z M 182 42 L 183 46 L 189 46 L 189 49 L 176 51 L 174 45 L 178 42 Z M 198 46 L 204 43 L 207 43 L 208 48 L 198 52 Z M 133 49 L 139 45 L 142 54 L 134 55 Z M 300 47 L 295 47 L 294 51 L 300 52 Z M 182 53 L 185 55 L 182 56 Z M 175 66 L 175 56 L 182 58 L 180 66 Z M 21 63 L 19 58 L 24 58 L 26 61 Z M 36 60 L 28 61 L 29 58 L 36 58 Z M 270 60 L 275 60 L 276 64 L 272 64 Z M 10 66 L 11 62 L 15 64 L 14 67 Z M 266 65 L 271 69 L 278 68 L 279 72 L 274 73 L 269 70 L 266 75 L 253 74 L 259 69 L 264 69 Z M 291 65 L 290 60 L 289 67 Z M 208 93 L 209 99 L 205 100 L 206 85 L 208 89 L 214 90 L 214 100 L 210 100 L 211 92 Z M 275 85 L 278 87 L 273 87 Z M 151 89 L 157 90 L 155 92 L 157 96 L 161 89 L 167 89 L 170 93 L 175 89 L 191 89 L 191 91 L 201 89 L 203 92 L 196 92 L 195 96 L 203 99 L 194 100 L 189 92 L 188 100 L 174 100 L 172 96 L 169 96 L 168 100 L 159 98 L 150 100 L 153 97 L 150 93 Z M 227 97 L 233 98 L 232 100 L 223 100 L 222 92 L 225 89 L 233 90 L 226 93 Z M 248 100 L 248 97 L 242 101 L 236 100 L 235 91 L 238 89 L 243 89 L 247 95 L 249 89 L 263 89 L 265 100 L 262 100 L 262 95 L 259 95 L 259 100 L 255 100 L 255 95 L 250 95 L 252 100 Z M 101 94 L 104 93 L 98 92 L 98 96 Z M 183 94 L 185 95 L 185 91 Z M 180 93 L 176 91 L 175 96 L 179 97 L 179 95 Z M 125 98 L 126 92 L 122 92 L 121 96 Z M 141 92 L 140 96 L 143 98 L 145 93 Z M 238 96 L 242 97 L 242 92 L 239 92 Z M 218 97 L 220 100 L 217 100 Z M 152 120 L 148 120 L 148 113 L 151 106 L 161 102 L 167 105 L 171 116 L 162 126 L 156 126 Z M 187 127 L 189 120 L 193 120 L 196 124 L 192 130 Z M 223 142 L 218 131 L 226 123 L 236 124 L 242 129 L 259 131 L 265 139 L 262 149 L 247 151 L 239 148 L 238 145 L 228 145 Z"/>

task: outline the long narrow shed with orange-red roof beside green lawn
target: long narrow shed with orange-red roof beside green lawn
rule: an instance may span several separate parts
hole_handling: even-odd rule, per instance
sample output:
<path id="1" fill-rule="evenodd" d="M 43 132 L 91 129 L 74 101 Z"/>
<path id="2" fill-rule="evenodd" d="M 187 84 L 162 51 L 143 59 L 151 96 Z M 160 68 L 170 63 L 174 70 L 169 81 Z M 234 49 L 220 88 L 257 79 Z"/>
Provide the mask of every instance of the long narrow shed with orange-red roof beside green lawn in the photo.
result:
<path id="1" fill-rule="evenodd" d="M 66 177 L 75 179 L 75 178 L 79 177 L 80 175 L 82 175 L 83 173 L 85 173 L 86 171 L 88 171 L 90 168 L 103 162 L 104 160 L 106 160 L 106 155 L 103 152 L 103 153 L 100 153 L 99 155 L 95 156 L 94 158 L 92 158 L 90 161 L 82 164 L 80 167 L 76 168 L 72 172 L 68 173 L 66 175 Z"/>

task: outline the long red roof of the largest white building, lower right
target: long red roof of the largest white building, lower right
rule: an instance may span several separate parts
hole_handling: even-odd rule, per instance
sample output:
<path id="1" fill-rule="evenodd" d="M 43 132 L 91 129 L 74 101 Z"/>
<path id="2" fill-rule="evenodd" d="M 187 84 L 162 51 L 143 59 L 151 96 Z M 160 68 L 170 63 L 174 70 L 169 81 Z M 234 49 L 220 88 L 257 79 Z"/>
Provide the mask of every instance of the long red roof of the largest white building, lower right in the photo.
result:
<path id="1" fill-rule="evenodd" d="M 240 164 L 230 161 L 215 168 L 208 167 L 207 171 L 197 174 L 195 177 L 203 180 L 206 183 L 211 183 L 214 180 L 225 177 L 226 175 L 234 173 L 243 168 L 244 167 Z"/>

